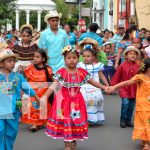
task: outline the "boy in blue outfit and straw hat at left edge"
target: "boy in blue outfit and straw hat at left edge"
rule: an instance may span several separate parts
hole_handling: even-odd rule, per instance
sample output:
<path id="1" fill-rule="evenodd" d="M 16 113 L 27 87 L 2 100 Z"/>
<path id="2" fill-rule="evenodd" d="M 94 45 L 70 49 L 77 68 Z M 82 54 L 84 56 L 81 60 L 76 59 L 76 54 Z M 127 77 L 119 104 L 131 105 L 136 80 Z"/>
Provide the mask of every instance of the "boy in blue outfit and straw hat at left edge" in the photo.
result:
<path id="1" fill-rule="evenodd" d="M 0 149 L 13 150 L 20 110 L 17 104 L 21 99 L 21 90 L 39 101 L 38 96 L 31 89 L 24 77 L 13 72 L 18 56 L 11 50 L 4 49 L 0 52 Z"/>

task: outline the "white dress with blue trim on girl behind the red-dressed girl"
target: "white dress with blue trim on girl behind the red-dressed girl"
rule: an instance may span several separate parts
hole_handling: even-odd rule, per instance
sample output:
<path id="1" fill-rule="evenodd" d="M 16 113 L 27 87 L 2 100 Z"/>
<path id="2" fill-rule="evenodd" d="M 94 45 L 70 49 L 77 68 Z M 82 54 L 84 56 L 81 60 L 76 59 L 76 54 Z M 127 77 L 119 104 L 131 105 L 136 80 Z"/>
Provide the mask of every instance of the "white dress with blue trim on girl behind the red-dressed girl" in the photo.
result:
<path id="1" fill-rule="evenodd" d="M 99 82 L 98 72 L 104 69 L 103 63 L 87 65 L 80 62 L 78 66 L 87 70 L 91 77 Z M 81 93 L 86 103 L 88 121 L 90 123 L 101 124 L 105 120 L 103 112 L 104 100 L 101 89 L 90 84 L 84 84 L 81 87 Z"/>

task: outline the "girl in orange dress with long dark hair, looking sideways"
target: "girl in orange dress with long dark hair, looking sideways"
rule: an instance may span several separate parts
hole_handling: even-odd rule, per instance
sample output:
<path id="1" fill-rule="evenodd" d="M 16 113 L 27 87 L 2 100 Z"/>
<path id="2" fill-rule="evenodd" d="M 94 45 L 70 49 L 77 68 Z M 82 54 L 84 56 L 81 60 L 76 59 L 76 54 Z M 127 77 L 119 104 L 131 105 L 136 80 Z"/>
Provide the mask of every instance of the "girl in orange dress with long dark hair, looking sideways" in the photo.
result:
<path id="1" fill-rule="evenodd" d="M 29 65 L 24 71 L 26 78 L 39 97 L 46 92 L 48 88 L 47 83 L 53 81 L 52 69 L 46 64 L 46 52 L 43 49 L 39 49 L 34 53 L 34 64 Z M 43 110 L 40 110 L 40 107 L 36 107 L 35 99 L 30 99 L 27 106 L 28 108 L 24 107 L 25 110 L 22 112 L 22 122 L 31 124 L 31 131 L 37 131 L 47 122 L 47 115 L 45 116 L 45 119 L 41 118 L 40 114 Z M 50 109 L 49 103 L 47 103 L 45 109 L 48 114 Z"/>

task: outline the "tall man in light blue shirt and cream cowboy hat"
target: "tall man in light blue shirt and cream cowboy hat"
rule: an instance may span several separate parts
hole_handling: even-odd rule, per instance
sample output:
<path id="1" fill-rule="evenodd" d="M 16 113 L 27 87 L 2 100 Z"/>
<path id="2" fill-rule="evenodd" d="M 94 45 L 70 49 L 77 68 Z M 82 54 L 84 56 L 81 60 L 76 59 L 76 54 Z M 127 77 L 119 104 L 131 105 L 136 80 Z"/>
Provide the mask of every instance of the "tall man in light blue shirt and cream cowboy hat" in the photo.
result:
<path id="1" fill-rule="evenodd" d="M 52 67 L 53 73 L 64 66 L 62 49 L 69 45 L 66 32 L 58 27 L 61 13 L 50 11 L 44 18 L 49 27 L 40 36 L 38 46 L 46 49 L 48 55 L 48 65 Z"/>

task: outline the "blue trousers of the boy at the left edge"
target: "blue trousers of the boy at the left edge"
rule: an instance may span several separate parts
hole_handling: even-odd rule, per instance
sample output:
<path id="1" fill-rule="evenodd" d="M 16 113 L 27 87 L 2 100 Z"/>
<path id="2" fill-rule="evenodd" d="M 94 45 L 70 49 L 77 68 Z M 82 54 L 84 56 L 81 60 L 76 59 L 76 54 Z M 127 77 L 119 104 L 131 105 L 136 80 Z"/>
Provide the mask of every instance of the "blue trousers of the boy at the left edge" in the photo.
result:
<path id="1" fill-rule="evenodd" d="M 13 150 L 19 125 L 20 113 L 14 113 L 14 119 L 0 119 L 0 150 Z"/>

